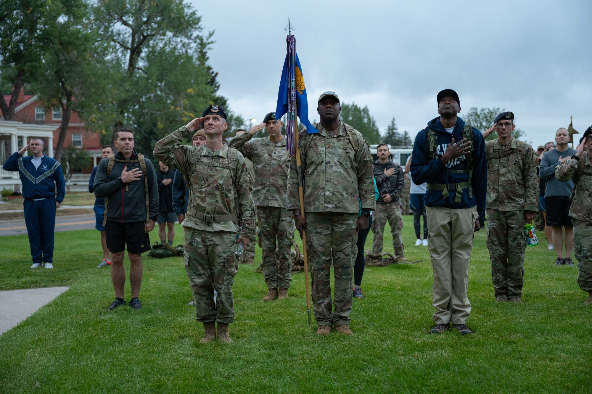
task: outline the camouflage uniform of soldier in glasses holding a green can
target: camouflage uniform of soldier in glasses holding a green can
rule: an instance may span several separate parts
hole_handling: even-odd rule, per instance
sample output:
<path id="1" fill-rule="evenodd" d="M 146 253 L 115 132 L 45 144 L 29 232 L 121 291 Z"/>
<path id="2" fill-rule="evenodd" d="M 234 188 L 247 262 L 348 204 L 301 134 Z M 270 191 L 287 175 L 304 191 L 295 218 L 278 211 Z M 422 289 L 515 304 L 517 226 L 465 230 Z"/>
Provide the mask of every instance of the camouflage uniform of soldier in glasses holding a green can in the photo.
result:
<path id="1" fill-rule="evenodd" d="M 525 211 L 539 210 L 538 161 L 529 144 L 485 142 L 487 152 L 487 248 L 496 298 L 520 297 L 524 282 Z"/>

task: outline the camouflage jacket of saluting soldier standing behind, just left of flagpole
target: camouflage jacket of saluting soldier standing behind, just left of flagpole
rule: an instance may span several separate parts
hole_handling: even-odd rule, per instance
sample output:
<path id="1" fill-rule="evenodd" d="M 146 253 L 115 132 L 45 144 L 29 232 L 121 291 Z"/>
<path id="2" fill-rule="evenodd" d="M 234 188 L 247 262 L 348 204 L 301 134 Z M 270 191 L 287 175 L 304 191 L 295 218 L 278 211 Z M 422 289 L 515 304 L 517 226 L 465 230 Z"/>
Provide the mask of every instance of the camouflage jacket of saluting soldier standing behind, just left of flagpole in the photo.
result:
<path id="1" fill-rule="evenodd" d="M 256 206 L 286 208 L 288 185 L 288 152 L 286 137 L 275 143 L 269 137 L 252 138 L 249 133 L 237 135 L 229 146 L 236 148 L 253 162 L 255 183 L 253 200 Z"/>

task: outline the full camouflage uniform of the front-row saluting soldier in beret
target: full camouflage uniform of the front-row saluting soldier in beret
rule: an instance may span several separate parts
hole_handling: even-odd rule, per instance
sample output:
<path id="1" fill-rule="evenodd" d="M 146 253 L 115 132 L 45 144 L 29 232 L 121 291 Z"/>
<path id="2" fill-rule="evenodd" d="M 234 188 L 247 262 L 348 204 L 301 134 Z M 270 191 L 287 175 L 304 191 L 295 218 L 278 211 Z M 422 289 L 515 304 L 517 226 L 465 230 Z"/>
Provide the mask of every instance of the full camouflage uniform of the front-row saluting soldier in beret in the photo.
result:
<path id="1" fill-rule="evenodd" d="M 232 286 L 238 265 L 234 247 L 241 235 L 255 237 L 255 205 L 243 155 L 226 144 L 185 146 L 189 132 L 181 127 L 156 143 L 154 156 L 185 177 L 189 204 L 185 220 L 185 271 L 191 285 L 197 321 L 234 320 Z M 214 304 L 214 289 L 218 293 Z"/>

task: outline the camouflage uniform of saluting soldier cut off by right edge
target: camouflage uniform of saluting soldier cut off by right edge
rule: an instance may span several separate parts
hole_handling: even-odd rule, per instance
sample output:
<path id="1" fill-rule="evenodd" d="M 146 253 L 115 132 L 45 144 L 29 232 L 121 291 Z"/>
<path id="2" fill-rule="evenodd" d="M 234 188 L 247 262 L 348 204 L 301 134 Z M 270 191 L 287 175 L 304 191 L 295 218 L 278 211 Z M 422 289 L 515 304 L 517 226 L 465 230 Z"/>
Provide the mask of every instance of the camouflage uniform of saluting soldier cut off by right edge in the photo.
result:
<path id="1" fill-rule="evenodd" d="M 585 160 L 584 172 L 575 186 L 575 196 L 570 206 L 574 223 L 574 252 L 578 259 L 578 285 L 585 292 L 592 292 L 592 159 L 584 151 L 578 162 Z M 577 175 L 573 160 L 567 160 L 555 170 L 555 179 L 567 182 Z M 574 180 L 575 182 L 575 180 Z"/>

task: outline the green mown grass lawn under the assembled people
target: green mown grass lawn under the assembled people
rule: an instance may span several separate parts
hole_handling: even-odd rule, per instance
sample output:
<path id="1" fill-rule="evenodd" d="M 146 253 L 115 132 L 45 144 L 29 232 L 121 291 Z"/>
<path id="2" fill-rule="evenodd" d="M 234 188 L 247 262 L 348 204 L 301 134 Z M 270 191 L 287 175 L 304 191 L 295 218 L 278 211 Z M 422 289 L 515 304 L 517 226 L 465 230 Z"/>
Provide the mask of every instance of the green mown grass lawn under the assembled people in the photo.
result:
<path id="1" fill-rule="evenodd" d="M 0 392 L 591 392 L 592 308 L 582 305 L 577 267 L 553 266 L 554 251 L 543 245 L 528 248 L 524 302 L 495 303 L 480 231 L 469 269 L 474 335 L 427 335 L 432 269 L 404 218 L 407 257 L 423 263 L 366 268 L 353 335 L 314 334 L 303 273 L 289 299 L 265 303 L 256 264 L 241 265 L 230 345 L 198 343 L 181 258 L 144 257 L 143 309 L 110 312 L 109 270 L 95 269 L 97 231 L 56 232 L 50 271 L 28 268 L 26 236 L 1 237 L 0 289 L 70 289 L 0 337 Z M 390 235 L 385 243 L 392 251 Z"/>

